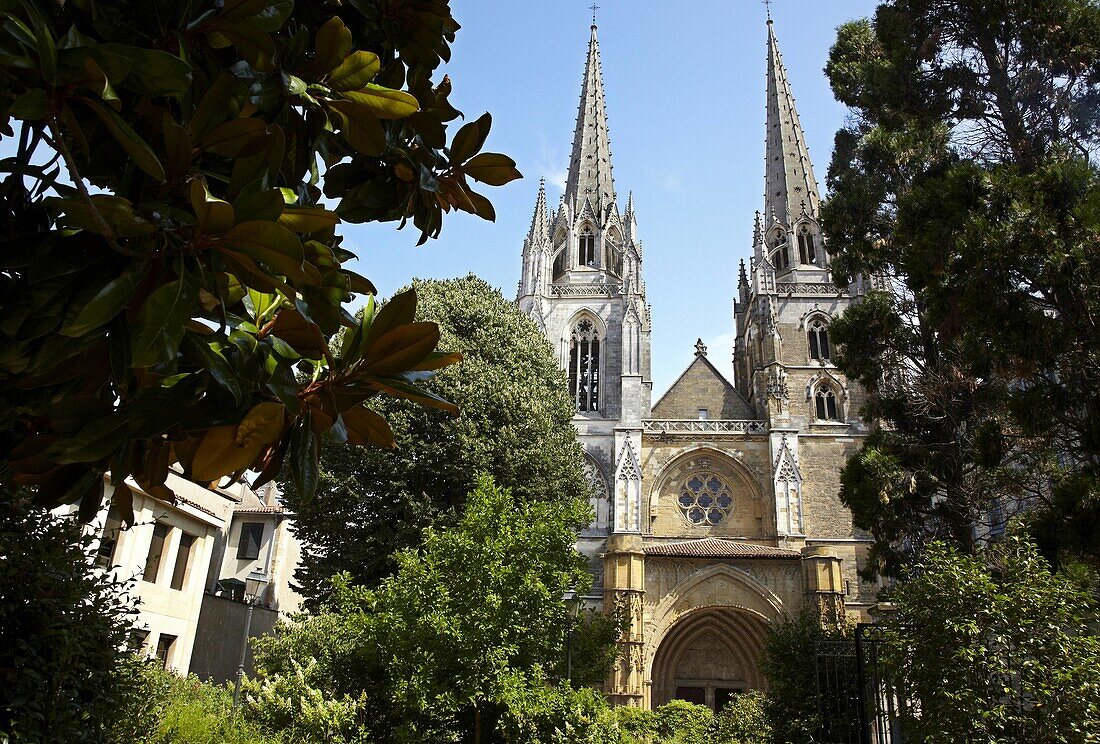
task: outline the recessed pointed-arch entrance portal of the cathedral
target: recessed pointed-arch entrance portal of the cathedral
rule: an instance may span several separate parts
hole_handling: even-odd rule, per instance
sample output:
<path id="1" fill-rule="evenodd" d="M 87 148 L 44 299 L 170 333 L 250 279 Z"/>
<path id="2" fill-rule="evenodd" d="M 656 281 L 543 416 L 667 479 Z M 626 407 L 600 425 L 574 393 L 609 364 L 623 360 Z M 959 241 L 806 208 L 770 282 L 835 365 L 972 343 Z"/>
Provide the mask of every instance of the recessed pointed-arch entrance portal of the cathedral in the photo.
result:
<path id="1" fill-rule="evenodd" d="M 758 659 L 766 621 L 734 608 L 708 608 L 678 621 L 653 657 L 650 704 L 673 699 L 705 704 L 715 711 L 732 696 L 762 689 Z"/>

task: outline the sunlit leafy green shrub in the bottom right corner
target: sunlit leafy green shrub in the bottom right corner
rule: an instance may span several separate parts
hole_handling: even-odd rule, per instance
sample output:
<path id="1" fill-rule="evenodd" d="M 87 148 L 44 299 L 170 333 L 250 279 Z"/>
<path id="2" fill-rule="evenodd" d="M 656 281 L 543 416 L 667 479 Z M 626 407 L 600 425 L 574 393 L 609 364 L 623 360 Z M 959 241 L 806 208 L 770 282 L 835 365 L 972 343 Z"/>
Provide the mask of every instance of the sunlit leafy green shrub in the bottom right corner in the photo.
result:
<path id="1" fill-rule="evenodd" d="M 934 544 L 888 616 L 897 681 L 919 702 L 905 741 L 1091 742 L 1100 736 L 1093 586 L 1053 573 L 1027 539 L 979 556 Z"/>

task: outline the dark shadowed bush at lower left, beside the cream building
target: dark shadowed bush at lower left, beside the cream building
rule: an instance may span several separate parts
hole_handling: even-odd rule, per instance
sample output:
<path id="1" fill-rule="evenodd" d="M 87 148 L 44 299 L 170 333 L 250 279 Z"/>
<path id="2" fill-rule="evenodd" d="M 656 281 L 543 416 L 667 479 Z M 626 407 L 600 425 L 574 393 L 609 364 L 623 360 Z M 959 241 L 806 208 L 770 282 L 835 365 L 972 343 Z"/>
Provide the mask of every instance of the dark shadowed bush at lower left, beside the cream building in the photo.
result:
<path id="1" fill-rule="evenodd" d="M 102 742 L 128 703 L 132 602 L 91 568 L 74 517 L 0 499 L 0 738 Z"/>

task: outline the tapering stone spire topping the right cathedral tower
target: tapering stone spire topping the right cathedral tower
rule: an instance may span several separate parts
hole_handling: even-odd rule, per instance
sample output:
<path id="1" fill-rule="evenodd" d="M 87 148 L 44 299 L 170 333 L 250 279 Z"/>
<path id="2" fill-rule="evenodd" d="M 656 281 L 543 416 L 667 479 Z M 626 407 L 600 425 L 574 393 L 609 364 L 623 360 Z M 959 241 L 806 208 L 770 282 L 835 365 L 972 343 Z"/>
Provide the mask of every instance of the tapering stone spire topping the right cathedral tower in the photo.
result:
<path id="1" fill-rule="evenodd" d="M 801 214 L 802 203 L 805 203 L 806 214 L 816 218 L 821 196 L 771 19 L 768 20 L 767 132 L 763 198 L 766 225 L 770 226 L 774 219 L 785 225 L 788 215 L 798 217 Z"/>

